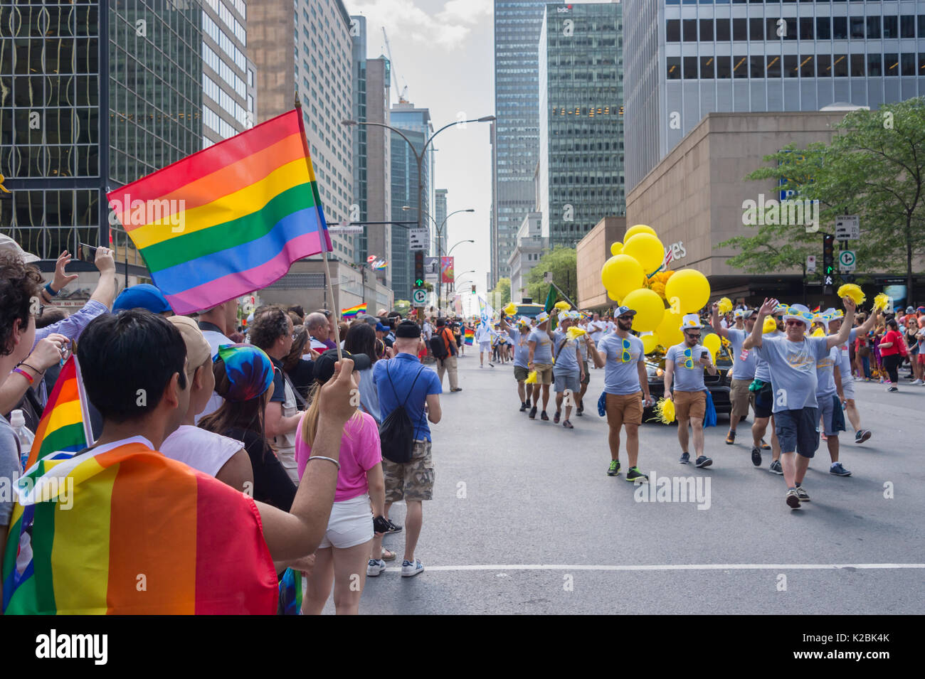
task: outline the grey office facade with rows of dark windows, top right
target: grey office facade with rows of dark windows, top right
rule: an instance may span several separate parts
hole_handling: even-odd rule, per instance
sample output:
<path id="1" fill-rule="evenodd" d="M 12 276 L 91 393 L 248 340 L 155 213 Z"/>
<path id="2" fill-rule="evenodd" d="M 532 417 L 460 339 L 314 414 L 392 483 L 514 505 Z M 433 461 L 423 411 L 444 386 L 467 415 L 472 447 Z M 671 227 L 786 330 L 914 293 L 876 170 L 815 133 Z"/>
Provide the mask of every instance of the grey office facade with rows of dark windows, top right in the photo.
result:
<path id="1" fill-rule="evenodd" d="M 625 4 L 628 189 L 709 112 L 876 109 L 925 94 L 922 0 Z"/>

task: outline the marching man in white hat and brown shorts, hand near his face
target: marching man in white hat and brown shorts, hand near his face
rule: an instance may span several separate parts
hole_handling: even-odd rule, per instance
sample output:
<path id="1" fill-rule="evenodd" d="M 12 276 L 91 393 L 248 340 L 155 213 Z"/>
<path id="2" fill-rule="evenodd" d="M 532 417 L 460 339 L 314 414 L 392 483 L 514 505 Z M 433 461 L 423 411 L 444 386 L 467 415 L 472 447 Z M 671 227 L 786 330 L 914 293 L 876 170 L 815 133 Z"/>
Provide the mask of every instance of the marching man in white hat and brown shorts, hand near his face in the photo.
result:
<path id="1" fill-rule="evenodd" d="M 709 349 L 700 344 L 703 325 L 696 313 L 685 314 L 681 330 L 685 341 L 672 346 L 665 354 L 665 398 L 674 402 L 675 417 L 678 420 L 678 443 L 681 443 L 682 465 L 690 464 L 687 450 L 687 427 L 694 430 L 694 450 L 697 453 L 697 467 L 709 467 L 713 460 L 703 454 L 703 418 L 707 414 L 707 387 L 703 382 L 703 371 L 716 374 L 716 366 L 709 356 Z M 672 393 L 672 379 L 674 391 Z"/>

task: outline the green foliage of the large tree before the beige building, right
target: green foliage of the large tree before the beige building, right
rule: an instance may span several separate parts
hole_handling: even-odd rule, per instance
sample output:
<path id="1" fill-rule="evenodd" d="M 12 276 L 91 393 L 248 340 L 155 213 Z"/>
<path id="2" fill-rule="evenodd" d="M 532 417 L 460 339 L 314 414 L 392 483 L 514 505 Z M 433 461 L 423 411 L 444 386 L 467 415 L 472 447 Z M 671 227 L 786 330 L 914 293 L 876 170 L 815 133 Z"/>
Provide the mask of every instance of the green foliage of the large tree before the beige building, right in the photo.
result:
<path id="1" fill-rule="evenodd" d="M 913 262 L 925 256 L 925 98 L 853 111 L 834 128 L 831 143 L 790 145 L 746 176 L 782 182 L 798 200 L 819 200 L 820 230 L 763 224 L 718 247 L 738 249 L 729 264 L 748 273 L 800 268 L 820 251 L 821 234 L 834 233 L 836 215 L 857 214 L 861 238 L 851 249 L 858 270 L 904 272 L 911 298 Z"/>

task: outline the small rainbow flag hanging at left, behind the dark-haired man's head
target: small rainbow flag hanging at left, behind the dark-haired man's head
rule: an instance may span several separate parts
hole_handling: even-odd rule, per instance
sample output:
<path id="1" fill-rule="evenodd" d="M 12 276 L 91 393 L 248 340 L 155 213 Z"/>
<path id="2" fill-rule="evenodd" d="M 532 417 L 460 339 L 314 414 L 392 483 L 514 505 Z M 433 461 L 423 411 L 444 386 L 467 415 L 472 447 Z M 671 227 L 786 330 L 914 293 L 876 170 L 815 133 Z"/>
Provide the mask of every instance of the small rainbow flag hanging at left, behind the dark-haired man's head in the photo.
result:
<path id="1" fill-rule="evenodd" d="M 48 397 L 39 426 L 35 428 L 35 441 L 26 468 L 41 459 L 70 457 L 93 443 L 87 412 L 87 396 L 83 393 L 80 366 L 77 358 L 71 354 Z"/>

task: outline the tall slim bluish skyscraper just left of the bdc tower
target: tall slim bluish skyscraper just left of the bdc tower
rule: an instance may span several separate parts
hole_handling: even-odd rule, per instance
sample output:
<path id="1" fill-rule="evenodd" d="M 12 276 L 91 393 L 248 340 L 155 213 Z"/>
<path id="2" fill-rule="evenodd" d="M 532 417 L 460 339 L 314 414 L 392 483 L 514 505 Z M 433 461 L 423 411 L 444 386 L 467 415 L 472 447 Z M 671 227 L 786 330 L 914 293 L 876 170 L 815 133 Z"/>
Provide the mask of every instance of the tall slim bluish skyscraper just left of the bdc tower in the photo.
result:
<path id="1" fill-rule="evenodd" d="M 511 274 L 517 229 L 534 210 L 539 148 L 536 45 L 546 6 L 561 0 L 495 0 L 495 115 L 492 130 L 492 285 Z M 491 287 L 489 286 L 489 287 Z"/>

